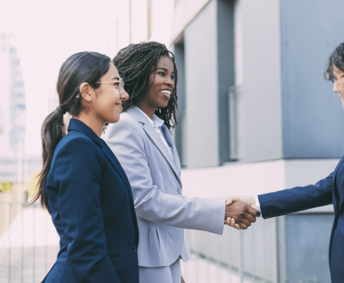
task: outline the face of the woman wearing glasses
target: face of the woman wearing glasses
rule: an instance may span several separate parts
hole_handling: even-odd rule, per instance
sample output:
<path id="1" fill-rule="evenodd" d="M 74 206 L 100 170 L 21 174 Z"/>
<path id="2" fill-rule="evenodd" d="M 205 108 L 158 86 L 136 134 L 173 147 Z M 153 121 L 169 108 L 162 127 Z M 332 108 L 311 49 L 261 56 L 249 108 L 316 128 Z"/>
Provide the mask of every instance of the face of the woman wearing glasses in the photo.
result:
<path id="1" fill-rule="evenodd" d="M 129 96 L 124 89 L 123 93 L 119 94 L 119 72 L 112 63 L 99 83 L 101 87 L 96 89 L 96 95 L 92 101 L 94 115 L 102 123 L 116 123 L 123 110 L 122 101 L 127 100 Z"/>

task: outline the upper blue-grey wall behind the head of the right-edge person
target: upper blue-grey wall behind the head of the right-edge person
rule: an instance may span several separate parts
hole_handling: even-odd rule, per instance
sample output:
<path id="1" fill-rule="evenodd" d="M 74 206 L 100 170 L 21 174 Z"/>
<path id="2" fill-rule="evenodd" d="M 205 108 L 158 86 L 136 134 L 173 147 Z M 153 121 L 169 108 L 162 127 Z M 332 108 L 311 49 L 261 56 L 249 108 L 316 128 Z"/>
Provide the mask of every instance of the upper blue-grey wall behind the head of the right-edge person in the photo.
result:
<path id="1" fill-rule="evenodd" d="M 341 157 L 344 112 L 322 77 L 343 42 L 344 2 L 281 0 L 283 143 L 285 158 Z"/>

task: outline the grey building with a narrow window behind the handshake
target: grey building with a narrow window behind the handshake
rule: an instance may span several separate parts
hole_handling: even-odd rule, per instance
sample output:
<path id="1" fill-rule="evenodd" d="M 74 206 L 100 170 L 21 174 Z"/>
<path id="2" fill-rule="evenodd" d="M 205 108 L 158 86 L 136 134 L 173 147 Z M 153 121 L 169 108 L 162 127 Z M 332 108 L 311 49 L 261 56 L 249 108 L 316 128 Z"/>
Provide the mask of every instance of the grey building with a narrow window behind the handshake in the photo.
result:
<path id="1" fill-rule="evenodd" d="M 109 53 L 148 40 L 175 53 L 173 135 L 185 195 L 263 194 L 334 170 L 344 153 L 344 113 L 322 74 L 343 42 L 339 7 L 340 0 L 126 0 L 116 7 Z M 243 268 L 253 281 L 329 282 L 333 219 L 328 206 L 259 219 L 242 234 L 186 237 L 193 254 Z"/>

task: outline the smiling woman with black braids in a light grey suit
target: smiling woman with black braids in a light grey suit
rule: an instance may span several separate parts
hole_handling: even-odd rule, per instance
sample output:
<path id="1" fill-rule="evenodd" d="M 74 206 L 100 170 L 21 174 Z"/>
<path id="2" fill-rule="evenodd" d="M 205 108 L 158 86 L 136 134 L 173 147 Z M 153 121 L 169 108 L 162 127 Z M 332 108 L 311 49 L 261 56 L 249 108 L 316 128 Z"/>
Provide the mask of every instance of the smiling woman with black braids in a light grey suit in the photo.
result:
<path id="1" fill-rule="evenodd" d="M 184 228 L 223 233 L 225 215 L 247 228 L 257 211 L 242 203 L 182 196 L 180 160 L 170 130 L 176 125 L 177 69 L 164 44 L 142 42 L 121 49 L 114 65 L 129 94 L 105 140 L 128 175 L 140 245 L 141 283 L 183 282 L 180 258 L 189 259 Z M 227 209 L 229 208 L 229 209 Z"/>

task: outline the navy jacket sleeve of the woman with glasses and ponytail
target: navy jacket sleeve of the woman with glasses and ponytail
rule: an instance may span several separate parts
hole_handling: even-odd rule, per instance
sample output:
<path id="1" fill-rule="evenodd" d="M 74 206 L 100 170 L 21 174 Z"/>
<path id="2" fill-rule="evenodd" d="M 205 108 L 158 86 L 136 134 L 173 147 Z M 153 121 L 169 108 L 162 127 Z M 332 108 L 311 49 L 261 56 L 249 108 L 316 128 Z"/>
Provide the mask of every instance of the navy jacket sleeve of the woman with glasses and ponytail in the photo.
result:
<path id="1" fill-rule="evenodd" d="M 107 255 L 101 207 L 101 151 L 92 141 L 67 141 L 55 159 L 58 211 L 67 260 L 83 282 L 120 282 Z"/>

